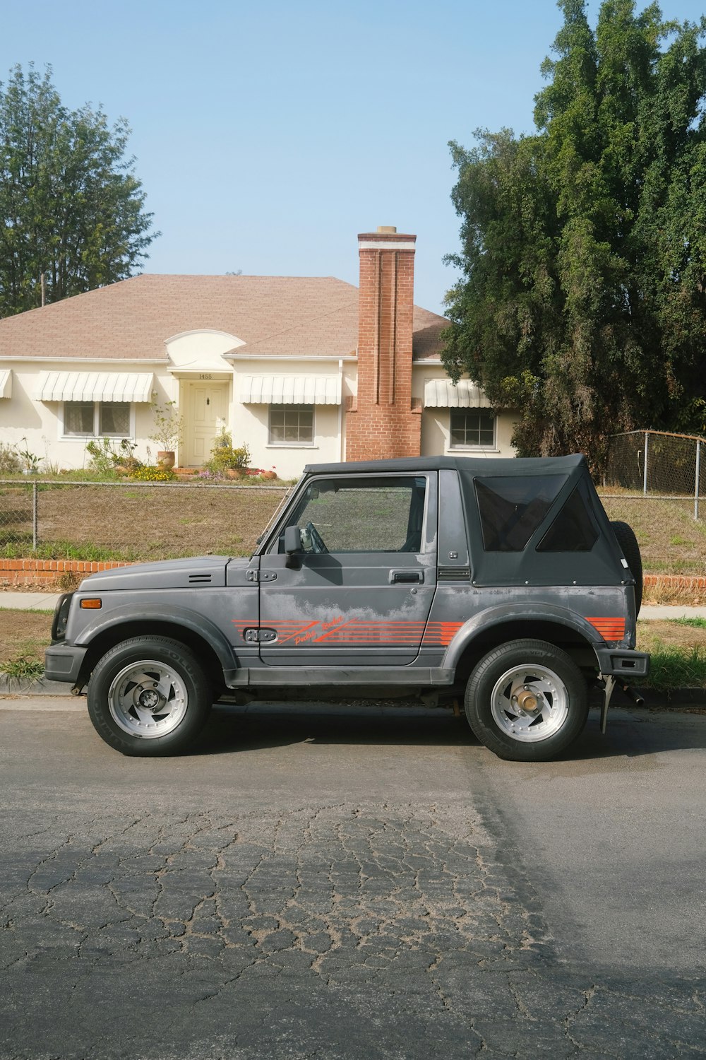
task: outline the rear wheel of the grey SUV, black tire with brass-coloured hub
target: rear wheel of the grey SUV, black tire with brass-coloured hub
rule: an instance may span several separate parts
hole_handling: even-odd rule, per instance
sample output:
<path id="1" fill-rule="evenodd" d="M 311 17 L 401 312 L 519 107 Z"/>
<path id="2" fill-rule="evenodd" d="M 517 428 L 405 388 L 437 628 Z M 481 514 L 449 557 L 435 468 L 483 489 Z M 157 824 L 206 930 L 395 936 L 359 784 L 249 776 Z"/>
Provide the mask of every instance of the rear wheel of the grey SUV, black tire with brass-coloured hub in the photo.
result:
<path id="1" fill-rule="evenodd" d="M 511 640 L 488 652 L 469 678 L 465 706 L 481 743 L 510 762 L 548 761 L 576 740 L 589 717 L 581 671 L 545 640 Z"/>

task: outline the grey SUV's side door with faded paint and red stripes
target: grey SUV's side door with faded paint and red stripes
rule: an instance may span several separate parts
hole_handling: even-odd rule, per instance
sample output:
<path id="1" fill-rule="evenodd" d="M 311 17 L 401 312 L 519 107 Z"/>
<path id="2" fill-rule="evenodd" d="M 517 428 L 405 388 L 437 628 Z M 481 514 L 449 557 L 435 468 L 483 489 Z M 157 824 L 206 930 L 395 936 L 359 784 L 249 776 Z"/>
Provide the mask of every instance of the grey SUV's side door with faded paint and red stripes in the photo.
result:
<path id="1" fill-rule="evenodd" d="M 284 552 L 287 526 L 303 550 Z M 405 666 L 436 587 L 436 474 L 311 479 L 260 558 L 270 666 Z"/>

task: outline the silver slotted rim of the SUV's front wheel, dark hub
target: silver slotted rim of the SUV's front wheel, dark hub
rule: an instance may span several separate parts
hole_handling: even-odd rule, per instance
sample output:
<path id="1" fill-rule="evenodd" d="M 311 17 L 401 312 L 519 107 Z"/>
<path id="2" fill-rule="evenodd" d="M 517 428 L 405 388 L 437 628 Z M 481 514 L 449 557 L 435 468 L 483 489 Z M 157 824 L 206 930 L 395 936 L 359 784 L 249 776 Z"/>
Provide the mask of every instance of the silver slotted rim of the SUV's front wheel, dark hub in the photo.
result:
<path id="1" fill-rule="evenodd" d="M 157 659 L 130 662 L 108 690 L 110 716 L 124 732 L 150 740 L 174 732 L 188 706 L 179 673 Z"/>

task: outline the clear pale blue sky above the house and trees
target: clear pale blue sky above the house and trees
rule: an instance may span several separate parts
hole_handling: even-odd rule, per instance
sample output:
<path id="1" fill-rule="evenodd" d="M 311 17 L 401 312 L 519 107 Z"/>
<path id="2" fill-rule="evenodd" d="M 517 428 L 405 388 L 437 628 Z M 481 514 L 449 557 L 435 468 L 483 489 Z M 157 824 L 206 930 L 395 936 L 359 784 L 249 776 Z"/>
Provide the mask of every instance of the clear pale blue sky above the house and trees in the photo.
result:
<path id="1" fill-rule="evenodd" d="M 0 77 L 49 63 L 67 105 L 128 119 L 162 232 L 146 271 L 357 283 L 357 233 L 396 225 L 417 234 L 415 300 L 440 312 L 447 143 L 531 129 L 559 25 L 554 0 L 33 0 L 4 5 Z"/>

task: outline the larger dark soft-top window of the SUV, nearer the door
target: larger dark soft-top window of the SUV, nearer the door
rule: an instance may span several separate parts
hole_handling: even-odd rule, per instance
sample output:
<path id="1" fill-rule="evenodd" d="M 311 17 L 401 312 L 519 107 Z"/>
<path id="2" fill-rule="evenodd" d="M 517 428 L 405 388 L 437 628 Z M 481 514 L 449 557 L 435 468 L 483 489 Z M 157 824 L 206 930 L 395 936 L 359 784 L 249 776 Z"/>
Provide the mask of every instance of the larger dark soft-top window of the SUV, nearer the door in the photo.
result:
<path id="1" fill-rule="evenodd" d="M 521 552 L 566 481 L 565 475 L 476 478 L 486 552 Z"/>

